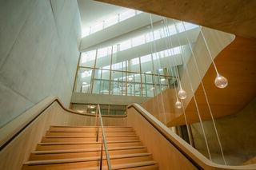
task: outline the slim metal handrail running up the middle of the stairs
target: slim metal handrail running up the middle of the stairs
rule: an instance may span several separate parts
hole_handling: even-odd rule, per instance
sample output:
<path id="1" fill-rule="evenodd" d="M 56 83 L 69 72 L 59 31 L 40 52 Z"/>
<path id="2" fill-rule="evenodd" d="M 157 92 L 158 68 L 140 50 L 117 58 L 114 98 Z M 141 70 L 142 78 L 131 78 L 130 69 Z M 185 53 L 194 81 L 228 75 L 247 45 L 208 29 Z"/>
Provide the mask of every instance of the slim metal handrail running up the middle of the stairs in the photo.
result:
<path id="1" fill-rule="evenodd" d="M 106 144 L 106 136 L 105 136 L 105 130 L 102 122 L 102 113 L 99 105 L 97 105 L 97 110 L 96 110 L 96 117 L 95 117 L 95 124 L 97 126 L 97 134 L 96 134 L 96 141 L 98 142 L 98 122 L 100 123 L 100 126 L 102 128 L 102 143 L 101 143 L 101 160 L 100 160 L 100 170 L 102 170 L 102 157 L 103 157 L 103 144 L 104 144 L 104 149 L 105 149 L 105 154 L 106 154 L 106 163 L 107 167 L 109 170 L 112 170 L 111 168 L 111 163 L 110 163 L 110 154 L 107 148 Z"/>

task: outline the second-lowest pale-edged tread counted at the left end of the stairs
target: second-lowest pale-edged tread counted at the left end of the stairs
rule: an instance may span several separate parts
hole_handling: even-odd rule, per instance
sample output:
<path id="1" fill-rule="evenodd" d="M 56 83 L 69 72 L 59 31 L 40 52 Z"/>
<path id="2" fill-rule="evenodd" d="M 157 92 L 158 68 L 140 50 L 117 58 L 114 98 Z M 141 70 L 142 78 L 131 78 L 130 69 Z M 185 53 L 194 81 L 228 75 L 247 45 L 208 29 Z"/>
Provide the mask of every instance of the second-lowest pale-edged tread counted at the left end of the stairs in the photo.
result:
<path id="1" fill-rule="evenodd" d="M 108 148 L 111 150 L 125 150 L 125 149 L 133 149 L 133 148 L 146 148 L 145 146 L 128 146 L 128 147 L 113 147 Z M 103 148 L 103 150 L 105 150 Z M 70 152 L 94 152 L 100 151 L 100 148 L 87 148 L 87 149 L 70 149 L 70 150 L 50 150 L 50 151 L 34 151 L 34 154 L 50 154 L 50 153 L 70 153 Z"/>

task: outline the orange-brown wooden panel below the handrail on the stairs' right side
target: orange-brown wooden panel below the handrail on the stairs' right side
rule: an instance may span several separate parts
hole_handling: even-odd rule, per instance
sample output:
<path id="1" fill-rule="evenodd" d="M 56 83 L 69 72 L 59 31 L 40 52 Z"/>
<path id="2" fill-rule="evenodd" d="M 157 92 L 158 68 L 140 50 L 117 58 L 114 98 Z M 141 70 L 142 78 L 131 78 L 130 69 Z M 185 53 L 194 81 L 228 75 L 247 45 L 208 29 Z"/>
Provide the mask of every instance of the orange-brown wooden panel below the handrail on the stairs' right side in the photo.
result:
<path id="1" fill-rule="evenodd" d="M 148 151 L 153 154 L 159 169 L 197 169 L 134 108 L 128 109 L 127 112 L 127 124 L 134 128 Z"/>

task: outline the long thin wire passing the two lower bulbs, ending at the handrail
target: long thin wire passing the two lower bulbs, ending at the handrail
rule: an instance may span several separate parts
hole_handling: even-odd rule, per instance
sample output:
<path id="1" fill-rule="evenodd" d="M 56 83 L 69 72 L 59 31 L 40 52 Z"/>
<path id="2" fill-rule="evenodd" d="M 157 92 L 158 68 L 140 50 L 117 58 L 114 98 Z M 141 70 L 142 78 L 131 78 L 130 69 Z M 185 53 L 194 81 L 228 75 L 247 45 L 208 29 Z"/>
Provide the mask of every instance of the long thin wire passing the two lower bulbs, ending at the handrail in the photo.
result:
<path id="1" fill-rule="evenodd" d="M 169 38 L 169 39 L 170 39 L 170 42 L 168 42 L 167 39 L 165 38 L 165 40 L 166 40 L 166 41 L 165 41 L 165 42 L 166 42 L 166 48 L 168 49 L 168 46 L 169 46 L 170 52 L 172 52 L 171 55 L 174 55 L 174 49 L 173 49 L 173 45 L 172 45 L 172 40 L 171 40 L 171 38 L 170 38 L 170 36 L 171 36 L 171 35 L 170 35 L 170 31 L 167 29 L 168 26 L 166 25 L 166 18 L 163 18 L 163 24 L 164 24 L 164 33 L 168 35 L 168 36 L 166 36 L 166 38 Z M 167 45 L 167 43 L 168 43 L 168 45 Z M 169 54 L 169 50 L 167 51 L 167 53 Z M 176 65 L 176 69 L 175 69 L 174 61 L 173 61 L 172 59 L 171 59 L 171 67 L 174 67 L 174 75 L 177 75 L 177 74 L 178 74 L 178 73 L 176 73 L 177 65 Z M 171 70 L 171 73 L 173 74 L 172 69 L 170 69 L 170 70 Z M 179 78 L 179 76 L 178 76 L 178 78 Z M 178 95 L 177 95 L 177 88 L 178 88 L 178 87 L 176 88 L 174 79 L 173 79 L 173 83 L 174 83 L 174 89 L 175 89 L 174 93 L 175 93 L 175 96 L 176 96 L 176 101 L 179 101 L 179 100 L 178 100 Z M 185 113 L 185 109 L 184 109 L 184 105 L 183 105 L 182 100 L 181 100 L 181 103 L 182 103 L 182 113 L 184 114 L 184 117 L 185 117 L 186 129 L 187 129 L 187 132 L 188 132 L 188 135 L 189 135 L 190 145 L 192 145 L 192 139 L 191 139 L 190 129 L 189 129 L 189 125 L 188 125 L 188 123 L 187 123 L 186 113 Z"/>

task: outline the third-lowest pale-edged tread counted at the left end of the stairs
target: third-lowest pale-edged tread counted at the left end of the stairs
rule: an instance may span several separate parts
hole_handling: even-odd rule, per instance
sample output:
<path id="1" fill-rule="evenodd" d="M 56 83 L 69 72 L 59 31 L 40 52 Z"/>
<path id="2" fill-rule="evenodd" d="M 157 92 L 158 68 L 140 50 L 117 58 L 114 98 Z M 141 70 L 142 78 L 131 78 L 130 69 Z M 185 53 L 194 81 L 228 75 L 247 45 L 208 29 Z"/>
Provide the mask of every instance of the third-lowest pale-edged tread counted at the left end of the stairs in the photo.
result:
<path id="1" fill-rule="evenodd" d="M 107 144 L 113 143 L 132 143 L 132 142 L 141 142 L 141 140 L 114 140 L 107 141 Z M 102 141 L 87 141 L 87 142 L 46 142 L 46 143 L 38 143 L 40 145 L 66 145 L 66 144 L 102 144 Z"/>

